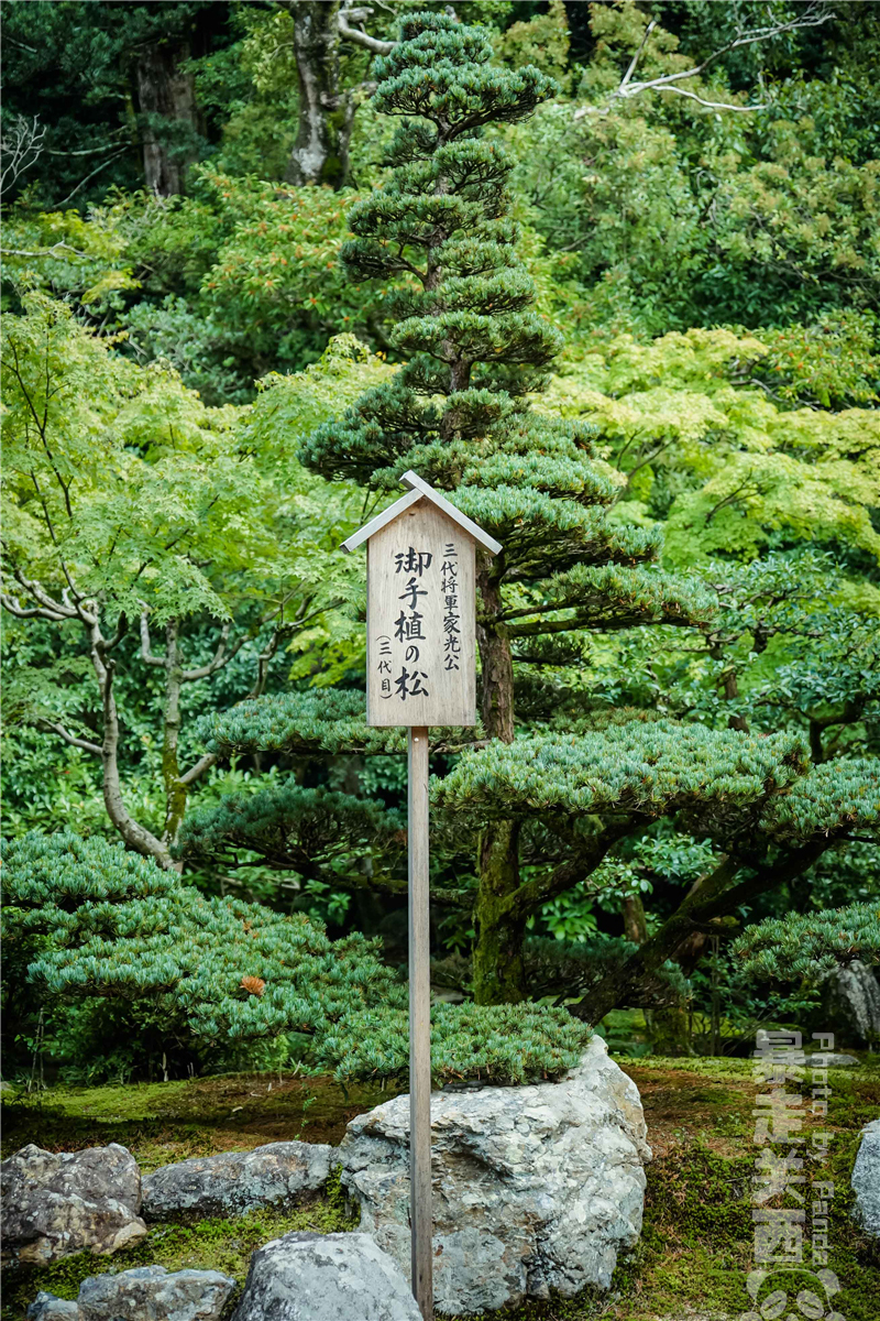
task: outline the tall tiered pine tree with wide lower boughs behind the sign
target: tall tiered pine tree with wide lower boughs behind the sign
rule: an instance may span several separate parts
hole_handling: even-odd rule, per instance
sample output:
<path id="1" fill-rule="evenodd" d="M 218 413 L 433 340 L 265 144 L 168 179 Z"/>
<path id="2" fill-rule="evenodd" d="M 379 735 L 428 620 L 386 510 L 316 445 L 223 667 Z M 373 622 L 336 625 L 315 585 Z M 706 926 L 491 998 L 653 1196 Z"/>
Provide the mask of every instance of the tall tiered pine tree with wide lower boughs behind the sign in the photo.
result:
<path id="1" fill-rule="evenodd" d="M 558 342 L 530 310 L 507 214 L 511 162 L 488 128 L 528 116 L 550 81 L 492 66 L 482 29 L 438 15 L 406 17 L 376 70 L 376 104 L 402 123 L 388 182 L 354 207 L 343 255 L 354 279 L 402 283 L 393 345 L 404 366 L 321 427 L 302 457 L 377 494 L 397 493 L 413 468 L 504 547 L 478 567 L 486 740 L 433 789 L 437 818 L 459 836 L 479 834 L 478 1004 L 526 997 L 529 918 L 586 880 L 602 885 L 599 869 L 623 840 L 672 818 L 715 845 L 699 885 L 574 1007 L 595 1022 L 616 1004 L 649 1003 L 689 941 L 876 824 L 880 775 L 871 760 L 813 765 L 797 734 L 600 713 L 582 688 L 544 678 L 545 667 L 583 662 L 584 635 L 691 626 L 710 616 L 711 596 L 652 563 L 656 534 L 615 520 L 617 477 L 588 428 L 528 398 Z M 402 744 L 367 729 L 360 696 L 288 694 L 214 717 L 208 746 L 307 756 Z"/>

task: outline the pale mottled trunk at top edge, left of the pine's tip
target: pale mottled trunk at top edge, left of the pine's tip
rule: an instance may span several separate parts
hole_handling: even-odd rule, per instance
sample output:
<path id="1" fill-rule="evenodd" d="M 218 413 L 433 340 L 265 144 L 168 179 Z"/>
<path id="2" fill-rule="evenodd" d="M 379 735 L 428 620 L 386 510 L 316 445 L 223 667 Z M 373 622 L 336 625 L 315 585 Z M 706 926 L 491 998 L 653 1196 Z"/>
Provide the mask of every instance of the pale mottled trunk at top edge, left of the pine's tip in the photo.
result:
<path id="1" fill-rule="evenodd" d="M 299 87 L 299 124 L 288 184 L 342 188 L 355 118 L 351 92 L 339 91 L 339 0 L 289 0 Z"/>

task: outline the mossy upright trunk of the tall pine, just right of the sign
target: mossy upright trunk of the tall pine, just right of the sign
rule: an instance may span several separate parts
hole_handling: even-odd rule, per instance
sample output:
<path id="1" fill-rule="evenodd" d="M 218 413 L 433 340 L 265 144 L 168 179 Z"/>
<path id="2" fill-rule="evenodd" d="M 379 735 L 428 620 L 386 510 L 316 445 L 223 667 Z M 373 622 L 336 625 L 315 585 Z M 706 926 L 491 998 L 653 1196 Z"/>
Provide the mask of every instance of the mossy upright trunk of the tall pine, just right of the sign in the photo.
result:
<path id="1" fill-rule="evenodd" d="M 478 565 L 482 610 L 495 616 L 501 592 L 491 571 Z M 480 713 L 489 738 L 513 742 L 513 658 L 504 630 L 479 624 Z M 479 889 L 474 906 L 474 1000 L 476 1004 L 519 1004 L 526 999 L 522 941 L 526 914 L 507 906 L 520 885 L 517 822 L 491 822 L 480 836 Z"/>

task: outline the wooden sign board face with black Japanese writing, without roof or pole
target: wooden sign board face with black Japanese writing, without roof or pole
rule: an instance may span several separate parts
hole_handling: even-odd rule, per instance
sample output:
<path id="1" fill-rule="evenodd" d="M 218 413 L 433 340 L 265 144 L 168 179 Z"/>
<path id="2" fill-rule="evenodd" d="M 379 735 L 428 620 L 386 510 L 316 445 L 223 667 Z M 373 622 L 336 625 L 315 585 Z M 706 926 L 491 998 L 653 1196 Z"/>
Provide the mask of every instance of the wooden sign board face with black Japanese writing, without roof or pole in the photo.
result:
<path id="1" fill-rule="evenodd" d="M 420 499 L 367 547 L 367 724 L 476 723 L 474 538 Z"/>

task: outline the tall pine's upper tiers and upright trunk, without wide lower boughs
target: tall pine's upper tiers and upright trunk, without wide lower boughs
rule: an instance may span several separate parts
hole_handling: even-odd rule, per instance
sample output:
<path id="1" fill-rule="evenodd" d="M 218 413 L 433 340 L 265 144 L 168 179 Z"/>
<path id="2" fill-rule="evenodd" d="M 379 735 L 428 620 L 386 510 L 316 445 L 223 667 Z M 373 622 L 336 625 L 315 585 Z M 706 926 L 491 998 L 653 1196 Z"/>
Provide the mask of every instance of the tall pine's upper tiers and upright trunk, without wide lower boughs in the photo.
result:
<path id="1" fill-rule="evenodd" d="M 408 276 L 394 349 L 408 361 L 306 444 L 327 477 L 393 489 L 406 468 L 453 493 L 504 551 L 478 571 L 482 717 L 489 738 L 515 737 L 513 647 L 579 627 L 690 622 L 699 593 L 640 565 L 657 542 L 612 526 L 615 483 L 590 428 L 534 411 L 561 347 L 532 310 L 533 283 L 508 217 L 512 161 L 489 124 L 528 118 L 554 92 L 537 69 L 491 63 L 480 28 L 413 15 L 376 61 L 380 111 L 401 116 L 388 184 L 355 205 L 343 250 L 352 279 Z M 528 911 L 516 822 L 484 827 L 474 974 L 478 1001 L 524 995 Z"/>

